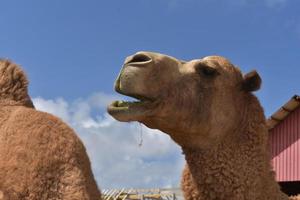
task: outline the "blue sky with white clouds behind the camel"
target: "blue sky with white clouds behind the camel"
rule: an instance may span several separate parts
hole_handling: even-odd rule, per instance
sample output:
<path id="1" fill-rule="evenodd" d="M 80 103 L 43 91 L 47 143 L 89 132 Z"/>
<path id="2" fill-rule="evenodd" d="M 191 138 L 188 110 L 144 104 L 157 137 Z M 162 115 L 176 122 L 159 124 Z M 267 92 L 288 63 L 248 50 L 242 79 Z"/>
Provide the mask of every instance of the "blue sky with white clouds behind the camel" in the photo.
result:
<path id="1" fill-rule="evenodd" d="M 0 57 L 23 66 L 38 108 L 75 128 L 101 187 L 176 186 L 183 165 L 182 157 L 176 156 L 180 149 L 144 127 L 142 132 L 150 132 L 144 134 L 148 137 L 144 141 L 163 138 L 168 146 L 163 153 L 152 152 L 149 143 L 138 155 L 132 149 L 123 151 L 134 158 L 130 164 L 127 159 L 127 164 L 112 171 L 101 164 L 128 158 L 115 150 L 112 160 L 104 159 L 110 153 L 101 142 L 113 143 L 120 129 L 135 138 L 126 138 L 124 144 L 139 140 L 139 133 L 134 133 L 139 125 L 120 124 L 104 112 L 105 104 L 115 98 L 113 82 L 124 58 L 140 50 L 185 60 L 212 54 L 228 57 L 243 72 L 260 73 L 263 86 L 257 95 L 269 116 L 292 95 L 300 94 L 299 8 L 297 0 L 2 1 Z M 164 171 L 174 163 L 176 169 Z M 135 174 L 137 166 L 148 165 Z M 126 179 L 119 171 L 145 179 L 132 183 L 129 175 Z M 159 179 L 163 173 L 169 173 L 165 180 Z"/>

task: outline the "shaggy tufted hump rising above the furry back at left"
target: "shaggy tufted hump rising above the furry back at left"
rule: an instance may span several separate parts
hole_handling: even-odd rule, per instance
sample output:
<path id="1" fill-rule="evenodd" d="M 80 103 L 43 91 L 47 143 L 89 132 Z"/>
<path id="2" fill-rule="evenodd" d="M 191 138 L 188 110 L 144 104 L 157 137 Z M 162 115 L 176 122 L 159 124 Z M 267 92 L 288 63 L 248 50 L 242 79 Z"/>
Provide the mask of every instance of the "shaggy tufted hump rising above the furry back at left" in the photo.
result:
<path id="1" fill-rule="evenodd" d="M 0 59 L 0 102 L 32 107 L 24 71 L 7 59 Z"/>

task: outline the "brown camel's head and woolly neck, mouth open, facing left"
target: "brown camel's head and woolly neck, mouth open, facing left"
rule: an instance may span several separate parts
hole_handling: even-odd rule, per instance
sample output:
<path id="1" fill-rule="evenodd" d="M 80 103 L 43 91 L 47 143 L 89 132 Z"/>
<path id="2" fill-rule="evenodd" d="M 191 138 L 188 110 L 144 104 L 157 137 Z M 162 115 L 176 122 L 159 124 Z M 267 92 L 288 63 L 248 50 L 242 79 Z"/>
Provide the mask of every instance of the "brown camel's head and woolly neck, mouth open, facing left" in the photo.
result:
<path id="1" fill-rule="evenodd" d="M 185 62 L 138 52 L 115 83 L 138 101 L 115 101 L 108 112 L 159 129 L 182 147 L 187 200 L 286 200 L 270 165 L 264 112 L 252 94 L 260 84 L 255 71 L 243 76 L 223 57 Z"/>

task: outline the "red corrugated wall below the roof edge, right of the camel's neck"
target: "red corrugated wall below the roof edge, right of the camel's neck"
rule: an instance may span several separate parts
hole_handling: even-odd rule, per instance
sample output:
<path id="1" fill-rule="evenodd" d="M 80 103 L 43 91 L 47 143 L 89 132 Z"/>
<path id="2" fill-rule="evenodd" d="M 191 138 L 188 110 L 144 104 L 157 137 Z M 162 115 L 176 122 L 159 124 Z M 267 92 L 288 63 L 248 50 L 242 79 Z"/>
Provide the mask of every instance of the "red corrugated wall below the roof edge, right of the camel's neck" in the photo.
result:
<path id="1" fill-rule="evenodd" d="M 270 131 L 277 181 L 300 181 L 300 108 Z"/>

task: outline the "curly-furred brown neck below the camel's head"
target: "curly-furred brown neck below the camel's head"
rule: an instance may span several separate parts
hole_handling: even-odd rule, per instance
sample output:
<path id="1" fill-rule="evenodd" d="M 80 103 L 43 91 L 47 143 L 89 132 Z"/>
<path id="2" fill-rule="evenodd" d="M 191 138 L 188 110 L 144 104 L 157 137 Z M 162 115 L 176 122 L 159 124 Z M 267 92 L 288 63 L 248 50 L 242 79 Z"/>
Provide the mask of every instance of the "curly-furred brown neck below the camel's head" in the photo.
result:
<path id="1" fill-rule="evenodd" d="M 263 200 L 274 195 L 286 199 L 271 170 L 264 123 L 255 126 L 249 122 L 231 135 L 235 137 L 227 137 L 212 148 L 182 148 L 187 162 L 182 178 L 184 193 L 206 200 Z"/>

